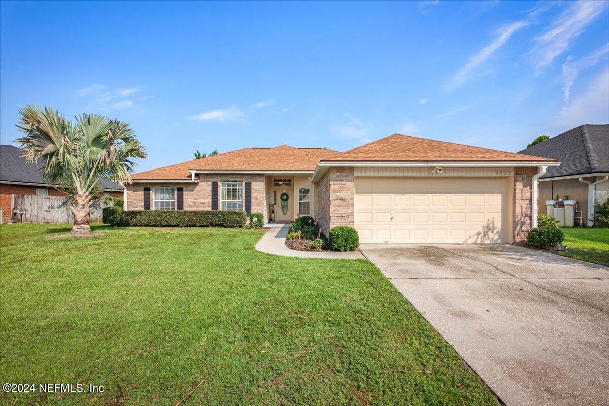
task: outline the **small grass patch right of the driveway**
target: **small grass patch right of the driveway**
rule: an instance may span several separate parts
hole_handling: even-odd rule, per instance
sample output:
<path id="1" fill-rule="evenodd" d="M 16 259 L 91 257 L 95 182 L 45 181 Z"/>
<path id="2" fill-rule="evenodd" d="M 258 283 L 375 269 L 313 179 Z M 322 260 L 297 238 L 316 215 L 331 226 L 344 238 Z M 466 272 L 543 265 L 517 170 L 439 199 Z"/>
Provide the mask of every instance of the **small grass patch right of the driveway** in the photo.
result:
<path id="1" fill-rule="evenodd" d="M 609 267 L 609 228 L 561 228 L 568 251 L 557 254 Z"/>

